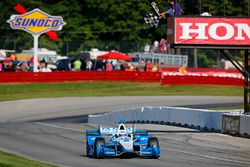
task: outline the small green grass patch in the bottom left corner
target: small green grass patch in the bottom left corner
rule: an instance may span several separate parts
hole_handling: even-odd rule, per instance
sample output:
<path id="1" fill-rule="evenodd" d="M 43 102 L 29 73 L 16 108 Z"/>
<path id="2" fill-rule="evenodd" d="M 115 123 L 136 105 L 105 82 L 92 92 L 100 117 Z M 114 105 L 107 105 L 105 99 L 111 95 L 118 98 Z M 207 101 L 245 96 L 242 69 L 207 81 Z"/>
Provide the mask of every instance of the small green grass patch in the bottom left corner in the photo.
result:
<path id="1" fill-rule="evenodd" d="M 0 167 L 56 167 L 0 151 Z"/>

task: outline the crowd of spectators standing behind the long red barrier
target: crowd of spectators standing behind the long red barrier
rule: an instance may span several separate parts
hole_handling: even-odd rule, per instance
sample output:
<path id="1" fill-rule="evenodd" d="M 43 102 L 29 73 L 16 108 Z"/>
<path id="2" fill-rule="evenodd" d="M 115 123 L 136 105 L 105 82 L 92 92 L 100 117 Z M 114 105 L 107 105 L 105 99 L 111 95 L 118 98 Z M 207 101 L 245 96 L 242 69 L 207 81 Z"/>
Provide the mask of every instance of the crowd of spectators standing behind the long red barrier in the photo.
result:
<path id="1" fill-rule="evenodd" d="M 160 49 L 159 49 L 160 51 Z M 46 61 L 44 58 L 38 60 L 40 72 L 52 71 L 159 71 L 160 64 L 152 63 L 137 55 L 133 61 L 123 60 L 84 60 L 84 59 L 62 59 L 56 63 Z M 17 60 L 15 54 L 0 60 L 0 72 L 32 72 L 33 58 L 29 60 Z"/>

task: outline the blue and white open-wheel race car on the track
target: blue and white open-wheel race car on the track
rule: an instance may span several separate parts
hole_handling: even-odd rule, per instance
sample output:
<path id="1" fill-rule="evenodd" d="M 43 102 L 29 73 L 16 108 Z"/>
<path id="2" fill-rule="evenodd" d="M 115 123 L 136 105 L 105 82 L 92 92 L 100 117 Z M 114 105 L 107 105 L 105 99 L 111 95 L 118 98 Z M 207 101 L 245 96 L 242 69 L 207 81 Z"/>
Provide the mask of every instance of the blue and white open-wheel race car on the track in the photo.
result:
<path id="1" fill-rule="evenodd" d="M 149 135 L 147 130 L 127 128 L 124 122 L 120 122 L 116 128 L 87 130 L 86 153 L 88 157 L 98 159 L 122 155 L 158 159 L 160 147 L 158 139 Z"/>

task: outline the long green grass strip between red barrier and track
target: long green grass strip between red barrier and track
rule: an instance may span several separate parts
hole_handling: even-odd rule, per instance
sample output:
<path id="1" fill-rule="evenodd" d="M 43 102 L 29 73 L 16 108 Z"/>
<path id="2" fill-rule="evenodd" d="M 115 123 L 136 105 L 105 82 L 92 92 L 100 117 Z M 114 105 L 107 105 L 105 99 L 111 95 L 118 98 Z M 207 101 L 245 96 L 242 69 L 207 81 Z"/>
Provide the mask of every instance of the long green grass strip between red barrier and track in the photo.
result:
<path id="1" fill-rule="evenodd" d="M 81 96 L 243 96 L 238 86 L 162 86 L 139 82 L 0 84 L 0 101 Z"/>

